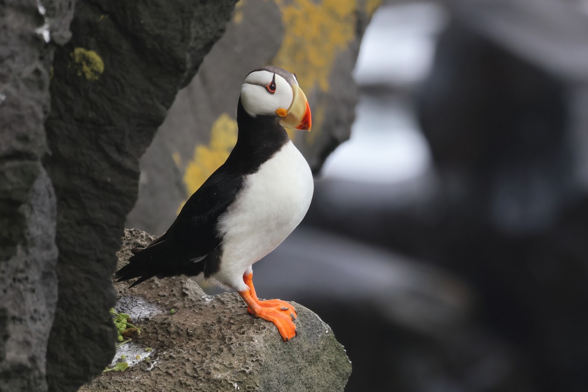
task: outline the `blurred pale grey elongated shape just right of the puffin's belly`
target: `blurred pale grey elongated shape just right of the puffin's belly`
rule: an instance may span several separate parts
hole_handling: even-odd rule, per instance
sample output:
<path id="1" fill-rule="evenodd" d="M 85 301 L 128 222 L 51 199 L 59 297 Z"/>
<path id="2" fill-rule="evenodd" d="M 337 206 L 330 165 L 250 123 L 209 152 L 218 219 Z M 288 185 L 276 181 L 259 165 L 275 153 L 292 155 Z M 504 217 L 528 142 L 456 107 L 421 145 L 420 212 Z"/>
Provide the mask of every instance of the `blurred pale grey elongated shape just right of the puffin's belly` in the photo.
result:
<path id="1" fill-rule="evenodd" d="M 262 297 L 369 306 L 391 324 L 429 335 L 464 323 L 473 300 L 466 284 L 442 270 L 309 227 L 256 263 L 253 276 Z"/>

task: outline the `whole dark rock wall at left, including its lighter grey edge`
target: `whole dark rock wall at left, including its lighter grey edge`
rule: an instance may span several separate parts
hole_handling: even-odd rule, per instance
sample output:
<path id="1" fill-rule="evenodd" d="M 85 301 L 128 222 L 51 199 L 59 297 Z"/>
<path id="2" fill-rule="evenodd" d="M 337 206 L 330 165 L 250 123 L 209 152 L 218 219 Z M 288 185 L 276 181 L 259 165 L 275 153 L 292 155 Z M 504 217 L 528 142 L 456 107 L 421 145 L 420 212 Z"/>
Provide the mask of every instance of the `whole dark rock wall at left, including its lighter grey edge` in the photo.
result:
<path id="1" fill-rule="evenodd" d="M 0 5 L 0 390 L 74 391 L 111 360 L 139 158 L 234 4 Z"/>

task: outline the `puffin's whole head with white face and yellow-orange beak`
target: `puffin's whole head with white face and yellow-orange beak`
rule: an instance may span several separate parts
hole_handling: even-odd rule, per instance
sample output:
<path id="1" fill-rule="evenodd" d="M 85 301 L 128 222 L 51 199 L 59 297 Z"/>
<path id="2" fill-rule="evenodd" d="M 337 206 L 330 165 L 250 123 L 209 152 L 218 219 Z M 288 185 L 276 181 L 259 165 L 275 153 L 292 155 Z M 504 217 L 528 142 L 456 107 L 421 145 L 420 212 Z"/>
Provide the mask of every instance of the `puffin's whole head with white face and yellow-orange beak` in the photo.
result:
<path id="1" fill-rule="evenodd" d="M 284 128 L 310 130 L 310 106 L 293 73 L 276 66 L 256 69 L 241 87 L 243 109 L 256 116 L 274 116 Z"/>

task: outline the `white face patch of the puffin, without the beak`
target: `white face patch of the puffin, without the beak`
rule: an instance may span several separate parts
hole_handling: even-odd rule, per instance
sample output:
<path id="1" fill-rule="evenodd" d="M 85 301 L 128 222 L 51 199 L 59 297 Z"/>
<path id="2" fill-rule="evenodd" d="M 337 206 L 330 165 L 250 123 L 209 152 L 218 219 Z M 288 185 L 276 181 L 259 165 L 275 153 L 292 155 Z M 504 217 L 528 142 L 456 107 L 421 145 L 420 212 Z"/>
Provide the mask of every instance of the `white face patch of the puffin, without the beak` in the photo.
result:
<path id="1" fill-rule="evenodd" d="M 252 117 L 276 116 L 276 110 L 288 110 L 293 99 L 290 83 L 277 73 L 265 70 L 249 73 L 241 87 L 241 103 Z"/>

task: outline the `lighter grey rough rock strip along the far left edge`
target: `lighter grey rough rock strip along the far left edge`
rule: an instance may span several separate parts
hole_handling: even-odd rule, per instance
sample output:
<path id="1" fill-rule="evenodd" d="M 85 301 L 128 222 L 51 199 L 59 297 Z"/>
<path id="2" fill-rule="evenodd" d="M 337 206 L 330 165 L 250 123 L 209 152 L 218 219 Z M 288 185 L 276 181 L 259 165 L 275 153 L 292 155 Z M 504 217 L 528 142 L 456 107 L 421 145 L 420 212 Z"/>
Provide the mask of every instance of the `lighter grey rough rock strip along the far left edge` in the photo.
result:
<path id="1" fill-rule="evenodd" d="M 57 301 L 55 192 L 41 158 L 49 66 L 72 1 L 0 4 L 0 391 L 46 391 Z M 42 11 L 42 12 L 41 12 Z M 54 22 L 59 21 L 59 24 Z M 49 36 L 42 26 L 50 26 Z"/>

